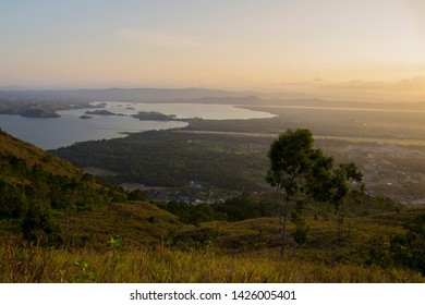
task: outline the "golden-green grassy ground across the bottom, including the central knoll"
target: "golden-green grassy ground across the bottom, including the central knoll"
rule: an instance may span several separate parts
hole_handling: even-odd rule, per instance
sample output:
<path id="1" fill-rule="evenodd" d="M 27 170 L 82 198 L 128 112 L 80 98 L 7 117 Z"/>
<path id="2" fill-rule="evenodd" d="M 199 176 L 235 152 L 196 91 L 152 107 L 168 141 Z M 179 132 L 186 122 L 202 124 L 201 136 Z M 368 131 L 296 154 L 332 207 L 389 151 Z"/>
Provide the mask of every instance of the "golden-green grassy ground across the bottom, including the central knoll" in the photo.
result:
<path id="1" fill-rule="evenodd" d="M 367 261 L 421 212 L 350 218 L 339 247 L 331 219 L 309 219 L 308 242 L 289 237 L 281 261 L 275 218 L 193 225 L 147 203 L 112 204 L 72 216 L 72 246 L 2 242 L 0 282 L 425 282 L 406 267 Z"/>

